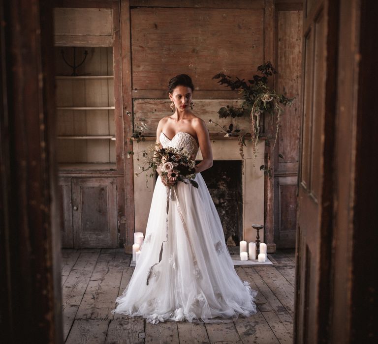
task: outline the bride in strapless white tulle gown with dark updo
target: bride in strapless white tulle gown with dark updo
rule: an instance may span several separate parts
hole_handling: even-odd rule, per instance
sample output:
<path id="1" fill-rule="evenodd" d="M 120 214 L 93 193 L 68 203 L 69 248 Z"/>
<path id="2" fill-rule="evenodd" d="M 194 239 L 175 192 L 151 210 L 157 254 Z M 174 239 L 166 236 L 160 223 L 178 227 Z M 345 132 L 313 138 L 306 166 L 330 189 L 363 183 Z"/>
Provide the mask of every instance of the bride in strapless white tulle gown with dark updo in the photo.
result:
<path id="1" fill-rule="evenodd" d="M 205 122 L 189 110 L 194 86 L 181 74 L 168 87 L 174 114 L 160 119 L 157 143 L 186 148 L 193 161 L 201 149 L 203 160 L 195 166 L 194 178 L 198 188 L 170 185 L 158 176 L 138 263 L 112 313 L 143 316 L 154 324 L 224 322 L 255 314 L 257 292 L 236 274 L 200 173 L 213 165 L 213 156 Z"/>

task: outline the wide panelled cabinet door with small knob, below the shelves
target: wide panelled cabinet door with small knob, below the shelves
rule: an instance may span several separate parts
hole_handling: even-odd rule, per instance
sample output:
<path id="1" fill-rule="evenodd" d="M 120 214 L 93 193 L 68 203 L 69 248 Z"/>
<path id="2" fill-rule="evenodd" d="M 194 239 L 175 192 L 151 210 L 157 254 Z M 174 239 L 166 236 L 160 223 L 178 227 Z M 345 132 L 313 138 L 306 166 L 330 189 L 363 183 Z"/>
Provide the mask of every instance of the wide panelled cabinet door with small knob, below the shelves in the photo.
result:
<path id="1" fill-rule="evenodd" d="M 115 248 L 117 204 L 115 178 L 72 178 L 75 248 Z"/>

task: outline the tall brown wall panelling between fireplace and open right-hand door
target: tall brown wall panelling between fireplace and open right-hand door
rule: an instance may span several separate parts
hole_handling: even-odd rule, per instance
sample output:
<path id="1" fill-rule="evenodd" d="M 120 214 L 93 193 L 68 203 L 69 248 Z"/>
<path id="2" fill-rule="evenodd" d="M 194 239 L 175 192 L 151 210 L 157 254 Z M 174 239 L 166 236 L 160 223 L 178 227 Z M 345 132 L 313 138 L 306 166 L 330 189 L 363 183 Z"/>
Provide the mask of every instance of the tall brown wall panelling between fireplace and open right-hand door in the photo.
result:
<path id="1" fill-rule="evenodd" d="M 274 191 L 274 242 L 278 248 L 295 247 L 296 230 L 290 224 L 295 225 L 296 220 L 292 218 L 293 214 L 289 210 L 295 210 L 297 207 L 293 185 L 296 184 L 294 179 L 298 174 L 302 108 L 302 7 L 301 3 L 295 2 L 275 4 L 276 54 L 274 65 L 278 71 L 275 88 L 278 92 L 286 93 L 289 97 L 295 97 L 293 105 L 286 107 L 281 116 L 280 132 L 274 151 L 274 183 L 275 187 L 278 187 Z M 291 186 L 281 187 L 282 183 L 289 183 Z M 283 195 L 283 190 L 286 190 L 288 194 Z M 290 203 L 286 204 L 286 201 Z M 282 222 L 281 214 L 283 214 L 284 209 L 289 211 L 285 219 L 290 224 Z"/>

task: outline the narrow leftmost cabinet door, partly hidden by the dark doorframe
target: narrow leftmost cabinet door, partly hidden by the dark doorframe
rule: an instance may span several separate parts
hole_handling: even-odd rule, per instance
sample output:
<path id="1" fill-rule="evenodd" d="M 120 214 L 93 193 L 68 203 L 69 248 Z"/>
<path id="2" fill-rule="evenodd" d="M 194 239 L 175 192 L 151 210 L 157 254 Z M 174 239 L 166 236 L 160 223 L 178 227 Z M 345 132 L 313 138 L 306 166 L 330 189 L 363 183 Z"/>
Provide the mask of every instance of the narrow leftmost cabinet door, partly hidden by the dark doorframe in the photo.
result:
<path id="1" fill-rule="evenodd" d="M 60 227 L 62 247 L 73 247 L 72 235 L 72 206 L 71 206 L 71 178 L 59 178 L 59 197 L 60 197 Z"/>

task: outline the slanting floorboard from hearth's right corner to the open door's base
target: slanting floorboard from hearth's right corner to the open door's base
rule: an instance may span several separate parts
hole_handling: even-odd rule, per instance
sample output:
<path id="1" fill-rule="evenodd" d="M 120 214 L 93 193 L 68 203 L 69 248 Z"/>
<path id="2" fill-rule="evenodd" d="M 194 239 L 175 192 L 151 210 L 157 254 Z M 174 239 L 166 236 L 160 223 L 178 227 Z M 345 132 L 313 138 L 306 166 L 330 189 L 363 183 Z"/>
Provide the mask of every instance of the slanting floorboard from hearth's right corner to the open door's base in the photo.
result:
<path id="1" fill-rule="evenodd" d="M 275 267 L 255 267 L 255 271 L 264 280 L 280 300 L 287 312 L 294 316 L 294 287 L 286 281 L 284 276 Z"/>

